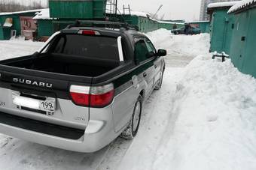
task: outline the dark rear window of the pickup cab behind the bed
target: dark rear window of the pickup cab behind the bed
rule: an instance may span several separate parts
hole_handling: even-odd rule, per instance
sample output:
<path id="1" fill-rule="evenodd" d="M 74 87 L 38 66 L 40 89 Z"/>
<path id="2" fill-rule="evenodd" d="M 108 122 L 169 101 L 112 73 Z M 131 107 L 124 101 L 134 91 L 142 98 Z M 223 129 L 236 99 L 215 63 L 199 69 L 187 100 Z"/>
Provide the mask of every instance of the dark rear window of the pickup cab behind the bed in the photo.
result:
<path id="1" fill-rule="evenodd" d="M 56 43 L 54 53 L 88 58 L 119 60 L 117 38 L 65 34 Z"/>

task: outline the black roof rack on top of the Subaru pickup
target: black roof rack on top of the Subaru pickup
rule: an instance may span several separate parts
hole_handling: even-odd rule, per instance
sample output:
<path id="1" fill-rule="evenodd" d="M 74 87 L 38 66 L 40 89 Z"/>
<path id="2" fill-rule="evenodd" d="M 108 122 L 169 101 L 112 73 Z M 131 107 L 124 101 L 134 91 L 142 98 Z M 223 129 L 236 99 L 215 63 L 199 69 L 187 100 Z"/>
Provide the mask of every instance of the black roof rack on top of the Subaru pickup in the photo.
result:
<path id="1" fill-rule="evenodd" d="M 127 22 L 111 22 L 111 21 L 95 21 L 95 20 L 76 20 L 74 24 L 68 25 L 66 28 L 72 27 L 103 27 L 103 28 L 126 28 L 126 30 L 133 29 L 139 31 L 137 25 L 130 25 Z"/>

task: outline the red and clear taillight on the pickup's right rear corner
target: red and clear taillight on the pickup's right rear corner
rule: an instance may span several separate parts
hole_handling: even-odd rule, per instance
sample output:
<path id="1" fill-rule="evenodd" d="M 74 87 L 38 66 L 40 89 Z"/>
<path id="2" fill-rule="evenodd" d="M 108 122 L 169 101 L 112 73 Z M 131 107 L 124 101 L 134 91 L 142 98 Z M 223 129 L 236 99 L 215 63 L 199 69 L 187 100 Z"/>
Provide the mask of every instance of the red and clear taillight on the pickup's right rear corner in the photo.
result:
<path id="1" fill-rule="evenodd" d="M 79 106 L 105 107 L 114 98 L 114 85 L 103 85 L 97 87 L 87 87 L 72 85 L 70 95 L 75 104 Z"/>

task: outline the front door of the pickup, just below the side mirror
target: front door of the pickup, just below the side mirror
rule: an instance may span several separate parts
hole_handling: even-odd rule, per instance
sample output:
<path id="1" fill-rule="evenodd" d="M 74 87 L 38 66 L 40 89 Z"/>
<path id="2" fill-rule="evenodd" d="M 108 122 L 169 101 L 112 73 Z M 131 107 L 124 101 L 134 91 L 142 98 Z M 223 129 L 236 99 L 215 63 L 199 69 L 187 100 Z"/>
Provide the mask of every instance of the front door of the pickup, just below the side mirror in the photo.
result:
<path id="1" fill-rule="evenodd" d="M 154 54 L 157 54 L 157 50 L 154 47 L 153 43 L 151 43 L 151 40 L 148 38 L 145 38 L 146 45 L 148 47 L 149 52 L 154 52 Z M 157 84 L 157 82 L 160 80 L 161 76 L 161 70 L 162 70 L 162 58 L 159 56 L 153 56 L 154 61 L 154 85 Z"/>

